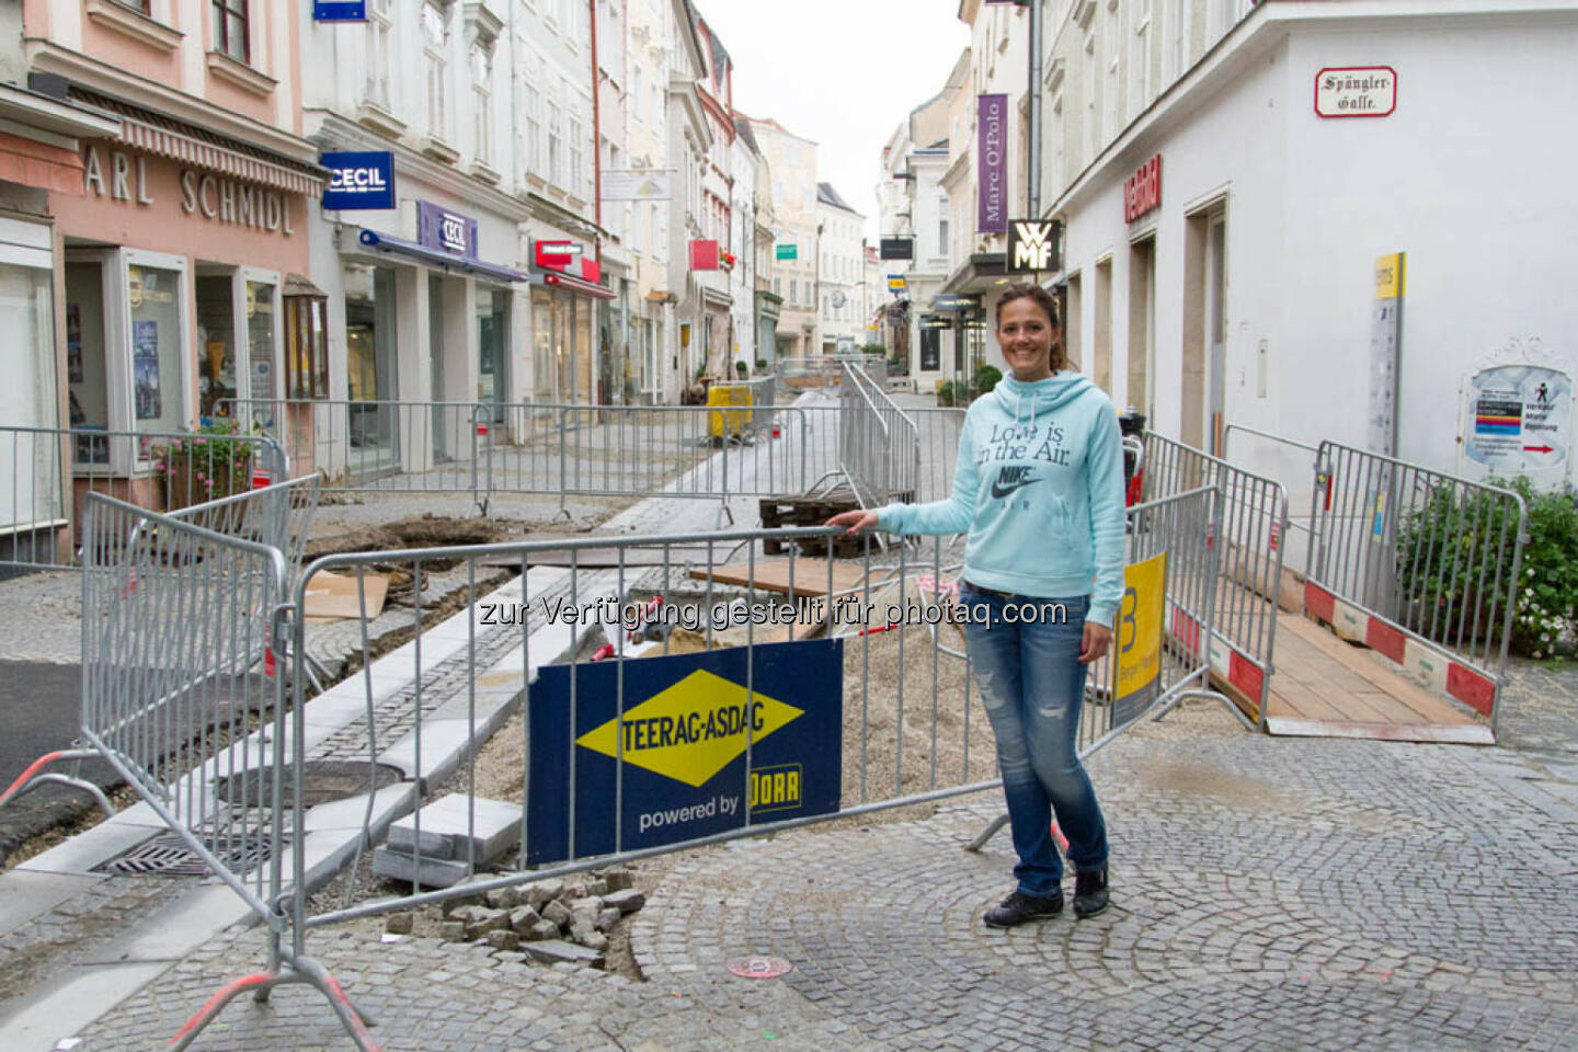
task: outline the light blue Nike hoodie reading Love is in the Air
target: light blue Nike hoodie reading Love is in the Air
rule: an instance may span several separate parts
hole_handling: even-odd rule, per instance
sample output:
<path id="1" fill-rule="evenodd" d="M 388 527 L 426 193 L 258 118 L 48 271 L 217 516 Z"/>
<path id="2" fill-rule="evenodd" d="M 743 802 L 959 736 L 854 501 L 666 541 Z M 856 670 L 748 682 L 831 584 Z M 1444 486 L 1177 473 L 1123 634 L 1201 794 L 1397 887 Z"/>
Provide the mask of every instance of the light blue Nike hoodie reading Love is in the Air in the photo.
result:
<path id="1" fill-rule="evenodd" d="M 1004 377 L 964 415 L 953 494 L 877 516 L 892 533 L 969 532 L 970 584 L 1089 595 L 1087 618 L 1111 625 L 1124 598 L 1124 443 L 1112 402 L 1078 372 Z"/>

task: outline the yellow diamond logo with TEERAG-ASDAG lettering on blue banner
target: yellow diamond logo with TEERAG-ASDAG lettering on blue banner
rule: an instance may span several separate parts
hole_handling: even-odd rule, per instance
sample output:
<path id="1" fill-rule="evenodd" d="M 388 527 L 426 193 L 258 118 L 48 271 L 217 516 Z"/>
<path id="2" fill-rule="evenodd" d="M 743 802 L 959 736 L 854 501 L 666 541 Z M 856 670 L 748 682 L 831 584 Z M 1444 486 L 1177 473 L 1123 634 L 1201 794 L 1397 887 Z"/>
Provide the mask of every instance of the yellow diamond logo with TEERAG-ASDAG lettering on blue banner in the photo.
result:
<path id="1" fill-rule="evenodd" d="M 686 785 L 701 787 L 745 752 L 805 710 L 707 670 L 691 672 L 625 713 L 625 762 Z M 619 757 L 619 719 L 590 730 L 576 743 Z"/>

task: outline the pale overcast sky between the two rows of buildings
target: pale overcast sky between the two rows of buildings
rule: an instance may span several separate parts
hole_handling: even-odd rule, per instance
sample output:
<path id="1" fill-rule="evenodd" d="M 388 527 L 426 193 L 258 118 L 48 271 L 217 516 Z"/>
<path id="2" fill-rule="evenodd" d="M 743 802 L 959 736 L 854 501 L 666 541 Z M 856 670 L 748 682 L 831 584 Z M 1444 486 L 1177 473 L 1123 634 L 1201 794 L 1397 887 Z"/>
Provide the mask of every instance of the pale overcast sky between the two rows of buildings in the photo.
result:
<path id="1" fill-rule="evenodd" d="M 970 32 L 959 0 L 696 0 L 734 58 L 734 106 L 816 142 L 817 178 L 877 238 L 882 147 L 942 90 Z"/>

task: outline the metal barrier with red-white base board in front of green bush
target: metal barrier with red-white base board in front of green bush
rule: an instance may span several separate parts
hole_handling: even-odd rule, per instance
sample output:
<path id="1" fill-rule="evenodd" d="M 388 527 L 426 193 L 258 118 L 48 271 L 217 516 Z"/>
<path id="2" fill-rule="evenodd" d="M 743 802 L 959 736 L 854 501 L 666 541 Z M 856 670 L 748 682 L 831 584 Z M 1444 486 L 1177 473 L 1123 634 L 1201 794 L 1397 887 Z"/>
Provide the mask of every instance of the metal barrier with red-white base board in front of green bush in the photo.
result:
<path id="1" fill-rule="evenodd" d="M 1305 609 L 1420 672 L 1496 732 L 1524 587 L 1523 497 L 1322 442 L 1310 533 Z M 1449 661 L 1430 661 L 1428 648 Z"/>

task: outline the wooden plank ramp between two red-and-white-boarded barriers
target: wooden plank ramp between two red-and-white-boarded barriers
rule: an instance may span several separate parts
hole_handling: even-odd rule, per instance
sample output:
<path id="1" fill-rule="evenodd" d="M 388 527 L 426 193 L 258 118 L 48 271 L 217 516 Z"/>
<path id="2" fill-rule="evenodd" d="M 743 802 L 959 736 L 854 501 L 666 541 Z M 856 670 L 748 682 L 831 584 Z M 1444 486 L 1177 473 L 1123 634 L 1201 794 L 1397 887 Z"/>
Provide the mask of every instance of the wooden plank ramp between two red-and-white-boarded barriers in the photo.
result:
<path id="1" fill-rule="evenodd" d="M 1496 744 L 1472 713 L 1431 694 L 1302 614 L 1277 612 L 1266 707 L 1273 735 Z"/>

